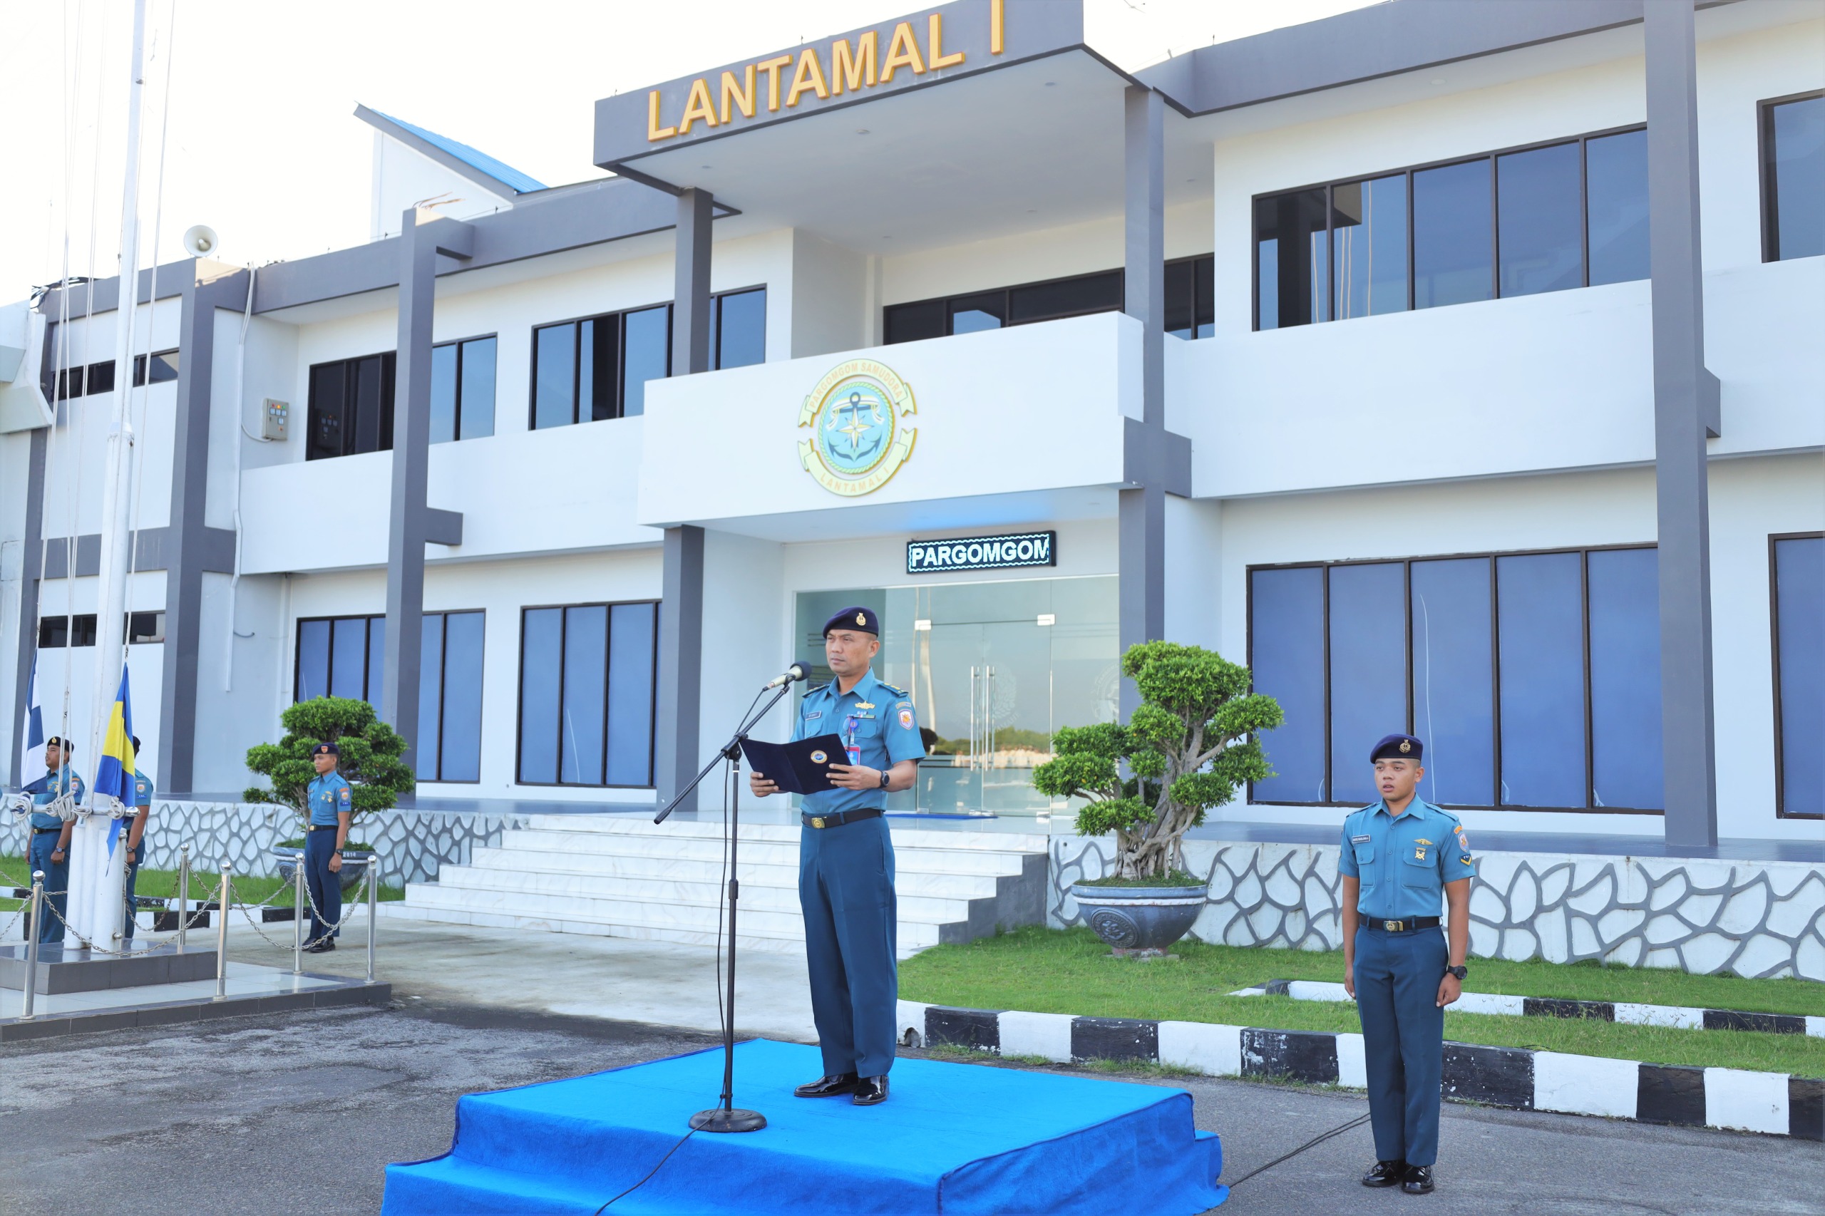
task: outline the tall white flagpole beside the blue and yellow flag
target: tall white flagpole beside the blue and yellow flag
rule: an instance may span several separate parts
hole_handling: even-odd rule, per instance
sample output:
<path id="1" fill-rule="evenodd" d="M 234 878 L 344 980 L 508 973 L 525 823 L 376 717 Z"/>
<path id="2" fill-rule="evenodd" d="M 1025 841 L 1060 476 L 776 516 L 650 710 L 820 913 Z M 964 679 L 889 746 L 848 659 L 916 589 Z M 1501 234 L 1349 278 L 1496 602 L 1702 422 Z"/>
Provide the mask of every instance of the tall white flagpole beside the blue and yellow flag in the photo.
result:
<path id="1" fill-rule="evenodd" d="M 126 665 L 126 592 L 133 537 L 131 506 L 133 429 L 128 398 L 133 393 L 133 320 L 139 305 L 139 121 L 144 91 L 146 0 L 133 0 L 133 49 L 126 106 L 126 173 L 120 184 L 120 290 L 115 310 L 115 391 L 102 466 L 100 588 L 95 599 L 95 696 L 89 699 L 89 749 L 77 760 L 91 776 L 102 765 L 111 710 Z M 155 252 L 157 256 L 157 252 Z M 151 367 L 148 360 L 148 380 Z M 69 928 L 93 949 L 122 948 L 126 847 L 111 847 L 119 800 L 89 787 L 91 814 L 77 818 L 69 856 Z"/>

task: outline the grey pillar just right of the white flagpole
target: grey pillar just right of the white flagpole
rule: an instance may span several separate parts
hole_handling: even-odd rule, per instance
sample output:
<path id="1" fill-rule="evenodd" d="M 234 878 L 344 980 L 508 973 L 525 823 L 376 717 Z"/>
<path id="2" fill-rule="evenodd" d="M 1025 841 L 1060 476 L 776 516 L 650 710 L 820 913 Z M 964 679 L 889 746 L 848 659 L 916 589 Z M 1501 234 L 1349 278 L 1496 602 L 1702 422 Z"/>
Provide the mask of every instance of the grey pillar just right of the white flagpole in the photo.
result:
<path id="1" fill-rule="evenodd" d="M 248 276 L 199 281 L 188 265 L 179 296 L 177 420 L 172 440 L 172 522 L 164 535 L 164 681 L 159 688 L 159 789 L 195 789 L 197 663 L 203 650 L 203 571 L 208 568 L 210 402 L 215 393 L 215 310 L 245 309 Z M 117 374 L 117 383 L 122 380 Z M 239 402 L 234 402 L 239 409 Z M 241 442 L 235 435 L 234 442 Z"/>

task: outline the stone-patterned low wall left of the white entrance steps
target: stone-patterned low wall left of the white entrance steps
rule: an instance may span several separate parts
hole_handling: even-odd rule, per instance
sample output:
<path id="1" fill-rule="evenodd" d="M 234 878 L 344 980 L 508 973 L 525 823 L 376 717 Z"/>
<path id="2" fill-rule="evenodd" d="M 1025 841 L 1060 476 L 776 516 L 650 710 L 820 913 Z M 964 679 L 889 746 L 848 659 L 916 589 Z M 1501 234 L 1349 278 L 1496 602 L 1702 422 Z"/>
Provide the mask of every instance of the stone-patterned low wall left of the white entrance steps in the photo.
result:
<path id="1" fill-rule="evenodd" d="M 374 845 L 381 886 L 431 882 L 443 865 L 467 865 L 476 845 L 496 845 L 516 814 L 449 814 L 442 811 L 380 811 L 356 822 L 352 840 Z M 250 802 L 159 802 L 146 829 L 146 867 L 177 869 L 181 845 L 190 845 L 192 869 L 234 865 L 237 875 L 276 875 L 272 847 L 296 834 L 288 807 Z M 26 823 L 0 823 L 0 853 L 26 853 Z"/>

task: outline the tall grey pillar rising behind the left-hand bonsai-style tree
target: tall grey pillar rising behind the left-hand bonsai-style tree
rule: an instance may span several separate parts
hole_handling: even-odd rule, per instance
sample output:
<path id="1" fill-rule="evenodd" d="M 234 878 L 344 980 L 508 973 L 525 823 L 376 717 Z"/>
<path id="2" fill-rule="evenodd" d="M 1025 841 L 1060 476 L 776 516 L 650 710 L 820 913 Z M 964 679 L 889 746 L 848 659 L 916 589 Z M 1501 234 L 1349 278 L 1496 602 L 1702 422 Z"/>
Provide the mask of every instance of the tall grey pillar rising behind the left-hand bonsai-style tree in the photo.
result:
<path id="1" fill-rule="evenodd" d="M 387 646 L 380 716 L 405 738 L 407 765 L 418 752 L 418 659 L 425 635 L 425 542 L 431 511 L 431 316 L 438 254 L 467 257 L 473 228 L 454 219 L 400 219 L 400 345 L 392 387 L 392 509 L 387 526 Z"/>

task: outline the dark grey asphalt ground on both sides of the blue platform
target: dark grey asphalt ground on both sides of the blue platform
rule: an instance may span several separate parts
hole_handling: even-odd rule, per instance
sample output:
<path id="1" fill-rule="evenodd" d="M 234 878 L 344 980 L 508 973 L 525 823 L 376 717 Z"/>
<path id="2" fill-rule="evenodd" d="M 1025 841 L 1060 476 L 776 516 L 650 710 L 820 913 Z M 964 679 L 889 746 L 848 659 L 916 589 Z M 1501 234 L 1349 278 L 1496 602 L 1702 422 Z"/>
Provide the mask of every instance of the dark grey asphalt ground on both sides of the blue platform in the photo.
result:
<path id="1" fill-rule="evenodd" d="M 440 1001 L 77 1035 L 0 1048 L 4 1212 L 374 1212 L 387 1161 L 449 1147 L 460 1094 L 703 1046 L 694 1032 Z M 1225 1178 L 1367 1110 L 1361 1097 L 1184 1085 Z M 714 1095 L 710 1095 L 714 1097 Z M 1730 1132 L 1447 1106 L 1440 1190 L 1369 1192 L 1354 1128 L 1241 1181 L 1225 1212 L 1820 1212 L 1825 1147 Z M 604 1196 L 606 1198 L 606 1196 Z"/>

